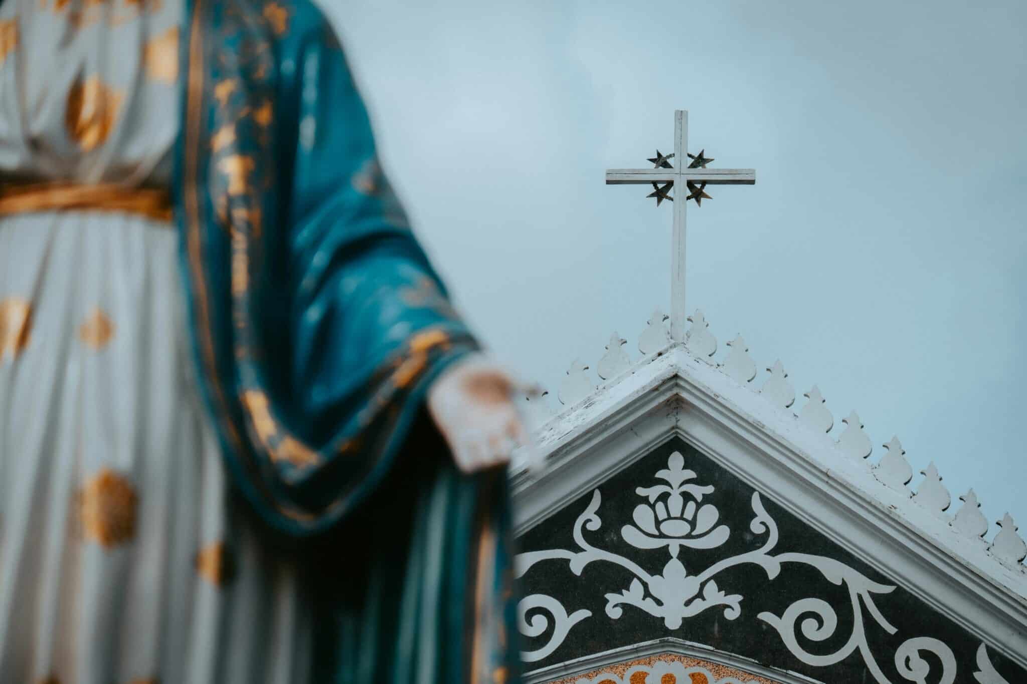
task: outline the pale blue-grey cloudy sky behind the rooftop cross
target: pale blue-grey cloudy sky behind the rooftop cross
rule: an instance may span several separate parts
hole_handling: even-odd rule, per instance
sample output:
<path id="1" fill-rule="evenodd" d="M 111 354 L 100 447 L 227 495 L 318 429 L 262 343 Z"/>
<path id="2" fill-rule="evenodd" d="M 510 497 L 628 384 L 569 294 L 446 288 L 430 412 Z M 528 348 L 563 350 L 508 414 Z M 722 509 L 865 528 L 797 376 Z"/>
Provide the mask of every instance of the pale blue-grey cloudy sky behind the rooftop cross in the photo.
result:
<path id="1" fill-rule="evenodd" d="M 555 398 L 670 306 L 648 166 L 755 168 L 688 209 L 686 299 L 875 444 L 1027 536 L 1027 3 L 324 2 L 386 171 L 489 350 Z M 594 372 L 594 371 L 593 371 Z M 599 378 L 594 377 L 598 383 Z"/>

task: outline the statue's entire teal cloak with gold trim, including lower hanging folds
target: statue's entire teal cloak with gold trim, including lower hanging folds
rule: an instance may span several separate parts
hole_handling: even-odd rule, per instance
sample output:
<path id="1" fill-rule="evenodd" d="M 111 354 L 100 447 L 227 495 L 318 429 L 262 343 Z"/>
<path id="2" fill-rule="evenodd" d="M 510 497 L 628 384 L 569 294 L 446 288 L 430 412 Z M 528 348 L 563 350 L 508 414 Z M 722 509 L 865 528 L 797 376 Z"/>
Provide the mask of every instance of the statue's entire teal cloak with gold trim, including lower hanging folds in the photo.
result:
<path id="1" fill-rule="evenodd" d="M 192 0 L 185 27 L 174 198 L 198 375 L 249 510 L 311 566 L 311 681 L 515 681 L 505 477 L 460 474 L 424 417 L 477 344 L 329 23 L 307 0 Z"/>

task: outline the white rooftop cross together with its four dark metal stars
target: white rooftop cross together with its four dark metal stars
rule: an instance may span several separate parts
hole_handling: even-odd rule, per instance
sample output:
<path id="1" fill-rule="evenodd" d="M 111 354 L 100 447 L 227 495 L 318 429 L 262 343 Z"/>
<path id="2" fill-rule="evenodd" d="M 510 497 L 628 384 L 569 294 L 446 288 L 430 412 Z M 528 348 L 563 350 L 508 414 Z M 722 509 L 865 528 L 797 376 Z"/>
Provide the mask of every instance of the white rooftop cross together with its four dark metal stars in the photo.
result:
<path id="1" fill-rule="evenodd" d="M 677 161 L 675 167 L 671 160 Z M 690 160 L 687 164 L 685 160 Z M 685 339 L 685 217 L 688 200 L 701 206 L 702 200 L 713 199 L 706 187 L 747 185 L 756 183 L 756 171 L 751 168 L 707 168 L 714 161 L 706 150 L 697 155 L 688 153 L 688 112 L 674 113 L 674 152 L 649 159 L 654 168 L 611 168 L 606 171 L 606 185 L 652 185 L 648 197 L 655 198 L 656 206 L 663 200 L 674 203 L 674 233 L 671 245 L 671 336 L 674 341 Z M 674 195 L 670 195 L 671 189 Z M 683 190 L 684 189 L 684 190 Z M 676 200 L 676 201 L 675 201 Z"/>

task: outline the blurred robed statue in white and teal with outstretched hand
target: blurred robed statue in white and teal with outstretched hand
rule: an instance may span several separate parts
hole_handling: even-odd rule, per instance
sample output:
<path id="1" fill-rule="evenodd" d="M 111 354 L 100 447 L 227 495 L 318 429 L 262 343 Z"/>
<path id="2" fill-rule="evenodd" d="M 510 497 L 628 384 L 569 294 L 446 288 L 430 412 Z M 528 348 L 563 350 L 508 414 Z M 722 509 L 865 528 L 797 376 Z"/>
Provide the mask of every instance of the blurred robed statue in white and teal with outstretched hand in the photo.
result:
<path id="1" fill-rule="evenodd" d="M 309 0 L 0 2 L 5 681 L 517 681 L 510 394 Z"/>

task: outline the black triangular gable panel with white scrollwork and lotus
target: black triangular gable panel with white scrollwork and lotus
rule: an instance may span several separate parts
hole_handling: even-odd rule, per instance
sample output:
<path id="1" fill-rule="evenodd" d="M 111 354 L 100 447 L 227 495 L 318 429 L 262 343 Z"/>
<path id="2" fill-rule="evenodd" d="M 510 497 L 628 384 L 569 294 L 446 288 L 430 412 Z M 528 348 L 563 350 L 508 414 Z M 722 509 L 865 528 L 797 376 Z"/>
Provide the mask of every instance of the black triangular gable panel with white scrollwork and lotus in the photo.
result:
<path id="1" fill-rule="evenodd" d="M 992 666 L 1010 684 L 1027 682 L 678 438 L 519 542 L 528 670 L 676 637 L 826 682 L 939 682 L 946 671 L 999 684 L 974 677 Z"/>

